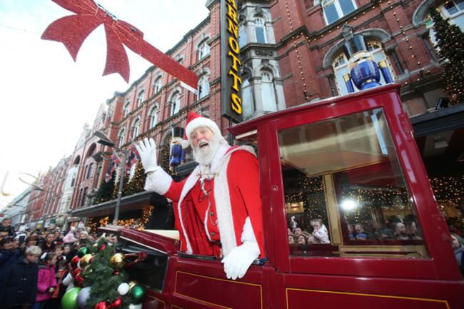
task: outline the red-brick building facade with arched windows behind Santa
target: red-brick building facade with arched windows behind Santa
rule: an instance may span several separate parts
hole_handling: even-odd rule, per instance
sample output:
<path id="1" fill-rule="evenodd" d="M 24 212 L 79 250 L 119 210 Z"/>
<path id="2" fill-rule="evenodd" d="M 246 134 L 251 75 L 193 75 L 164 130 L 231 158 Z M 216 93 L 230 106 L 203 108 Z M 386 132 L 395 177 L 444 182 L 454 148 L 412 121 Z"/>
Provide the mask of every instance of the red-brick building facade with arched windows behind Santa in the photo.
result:
<path id="1" fill-rule="evenodd" d="M 346 94 L 343 74 L 348 59 L 342 46 L 350 35 L 362 35 L 375 60 L 385 59 L 409 116 L 435 107 L 442 90 L 443 69 L 433 49 L 428 6 L 460 22 L 460 4 L 441 1 L 385 0 L 227 0 L 237 8 L 241 47 L 242 108 L 245 119 L 303 103 Z M 96 143 L 101 130 L 116 146 L 151 137 L 158 161 L 173 127 L 185 128 L 190 111 L 218 123 L 223 136 L 231 123 L 221 117 L 221 1 L 206 2 L 210 14 L 166 52 L 198 76 L 198 95 L 152 66 L 123 93 L 116 92 L 84 127 L 70 158 L 64 208 L 72 214 L 89 206 L 88 195 L 104 180 L 109 162 L 92 155 L 111 148 Z M 453 10 L 454 6 L 454 10 Z M 464 16 L 464 15 L 463 15 Z M 431 34 L 431 35 L 430 35 Z M 223 86 L 223 85 L 222 85 Z M 189 151 L 180 174 L 193 169 Z M 72 183 L 72 185 L 71 185 Z M 72 189 L 72 190 L 71 190 Z M 147 202 L 148 206 L 148 202 Z M 114 207 L 114 206 L 113 206 Z"/>

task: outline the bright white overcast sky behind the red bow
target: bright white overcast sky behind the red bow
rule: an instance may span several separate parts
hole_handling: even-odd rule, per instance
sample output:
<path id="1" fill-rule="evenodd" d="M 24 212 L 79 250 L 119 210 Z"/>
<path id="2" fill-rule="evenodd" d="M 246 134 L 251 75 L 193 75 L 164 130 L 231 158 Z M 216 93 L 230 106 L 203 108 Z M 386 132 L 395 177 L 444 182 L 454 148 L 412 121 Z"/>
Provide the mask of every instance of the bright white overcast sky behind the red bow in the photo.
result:
<path id="1" fill-rule="evenodd" d="M 140 29 L 161 51 L 171 49 L 209 13 L 206 0 L 96 2 Z M 130 85 L 118 74 L 102 76 L 104 26 L 84 41 L 76 62 L 63 44 L 40 39 L 49 24 L 71 14 L 51 0 L 0 1 L 0 183 L 9 171 L 3 193 L 11 194 L 0 196 L 0 206 L 27 187 L 18 173 L 36 176 L 71 155 L 84 123 L 92 125 L 100 104 Z M 126 51 L 132 83 L 151 64 Z"/>

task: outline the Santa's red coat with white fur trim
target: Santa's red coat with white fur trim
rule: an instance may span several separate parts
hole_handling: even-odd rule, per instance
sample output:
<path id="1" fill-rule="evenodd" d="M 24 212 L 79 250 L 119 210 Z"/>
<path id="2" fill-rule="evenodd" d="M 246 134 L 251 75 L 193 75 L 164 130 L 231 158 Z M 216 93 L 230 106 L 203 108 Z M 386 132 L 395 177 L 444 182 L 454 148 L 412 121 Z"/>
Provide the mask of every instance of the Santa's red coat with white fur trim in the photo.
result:
<path id="1" fill-rule="evenodd" d="M 213 194 L 199 202 L 201 166 L 180 183 L 172 181 L 163 170 L 156 179 L 147 177 L 146 190 L 155 191 L 173 201 L 176 229 L 182 250 L 200 255 L 225 257 L 246 240 L 256 240 L 261 255 L 263 246 L 263 218 L 259 193 L 258 159 L 249 146 L 221 146 L 211 163 Z M 246 218 L 250 218 L 253 233 L 243 233 Z M 217 222 L 217 223 L 216 223 Z M 247 230 L 250 231 L 249 229 Z M 221 246 L 218 241 L 221 240 Z"/>

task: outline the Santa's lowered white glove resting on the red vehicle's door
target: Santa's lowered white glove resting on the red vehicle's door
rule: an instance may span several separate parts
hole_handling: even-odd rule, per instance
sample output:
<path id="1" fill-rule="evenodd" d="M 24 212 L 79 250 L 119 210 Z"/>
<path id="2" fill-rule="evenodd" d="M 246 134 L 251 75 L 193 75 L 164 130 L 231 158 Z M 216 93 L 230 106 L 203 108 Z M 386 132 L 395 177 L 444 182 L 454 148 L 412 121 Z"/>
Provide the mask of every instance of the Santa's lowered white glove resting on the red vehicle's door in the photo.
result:
<path id="1" fill-rule="evenodd" d="M 236 280 L 242 278 L 246 270 L 250 267 L 253 260 L 259 256 L 258 243 L 246 241 L 242 245 L 231 250 L 221 263 L 224 263 L 224 272 L 228 279 Z"/>

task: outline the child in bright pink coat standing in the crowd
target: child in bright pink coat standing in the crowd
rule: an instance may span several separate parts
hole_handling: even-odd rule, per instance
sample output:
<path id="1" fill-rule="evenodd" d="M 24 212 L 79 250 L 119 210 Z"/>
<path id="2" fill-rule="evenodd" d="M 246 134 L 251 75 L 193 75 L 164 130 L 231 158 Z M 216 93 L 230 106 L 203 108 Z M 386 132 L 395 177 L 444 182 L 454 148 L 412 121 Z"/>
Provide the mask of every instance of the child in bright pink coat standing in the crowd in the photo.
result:
<path id="1" fill-rule="evenodd" d="M 39 266 L 39 277 L 37 280 L 36 303 L 31 309 L 42 309 L 45 303 L 56 290 L 55 277 L 56 253 L 48 253 L 44 258 L 44 265 Z"/>

